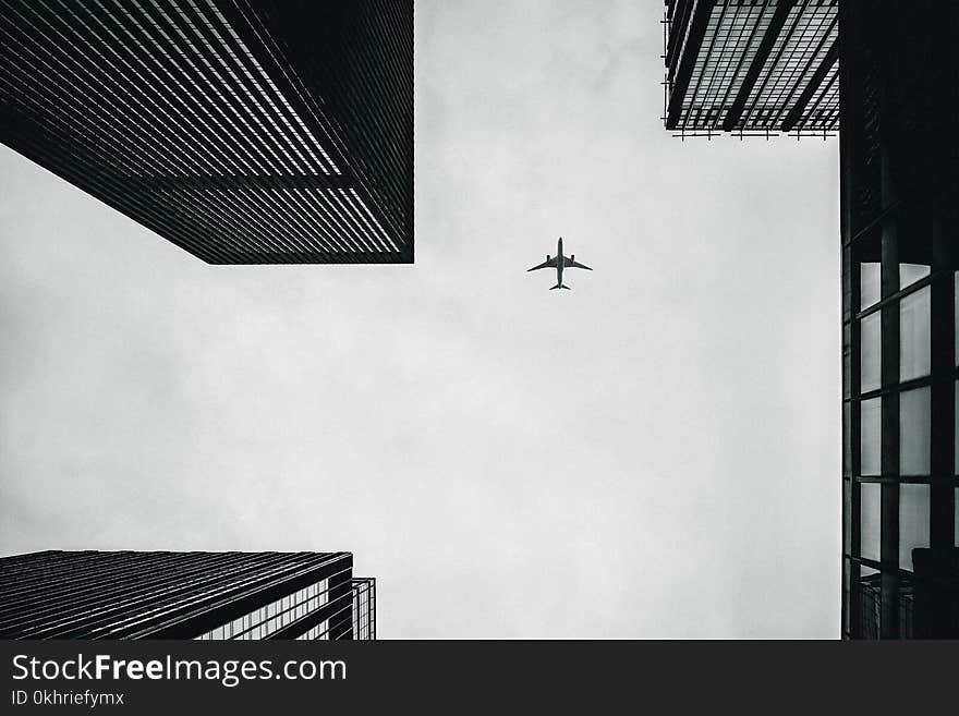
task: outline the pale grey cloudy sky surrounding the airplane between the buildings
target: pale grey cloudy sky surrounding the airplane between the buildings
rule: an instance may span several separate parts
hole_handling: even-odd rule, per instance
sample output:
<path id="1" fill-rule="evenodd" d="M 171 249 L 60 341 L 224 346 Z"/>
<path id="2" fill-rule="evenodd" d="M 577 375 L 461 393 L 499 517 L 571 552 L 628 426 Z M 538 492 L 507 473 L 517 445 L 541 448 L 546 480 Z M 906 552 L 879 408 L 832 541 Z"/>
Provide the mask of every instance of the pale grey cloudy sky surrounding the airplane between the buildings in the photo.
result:
<path id="1" fill-rule="evenodd" d="M 351 550 L 383 638 L 838 636 L 838 141 L 671 138 L 661 9 L 417 1 L 414 266 L 207 266 L 0 147 L 3 554 Z"/>

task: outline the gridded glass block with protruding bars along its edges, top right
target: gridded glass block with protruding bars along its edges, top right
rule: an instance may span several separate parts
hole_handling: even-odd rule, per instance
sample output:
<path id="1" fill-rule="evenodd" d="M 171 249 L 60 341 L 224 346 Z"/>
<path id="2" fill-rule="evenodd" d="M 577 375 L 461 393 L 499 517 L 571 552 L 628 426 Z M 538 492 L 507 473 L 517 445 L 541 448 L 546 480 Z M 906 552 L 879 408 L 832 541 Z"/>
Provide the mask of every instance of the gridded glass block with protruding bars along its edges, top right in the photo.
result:
<path id="1" fill-rule="evenodd" d="M 839 126 L 839 0 L 666 0 L 666 129 L 683 136 Z"/>

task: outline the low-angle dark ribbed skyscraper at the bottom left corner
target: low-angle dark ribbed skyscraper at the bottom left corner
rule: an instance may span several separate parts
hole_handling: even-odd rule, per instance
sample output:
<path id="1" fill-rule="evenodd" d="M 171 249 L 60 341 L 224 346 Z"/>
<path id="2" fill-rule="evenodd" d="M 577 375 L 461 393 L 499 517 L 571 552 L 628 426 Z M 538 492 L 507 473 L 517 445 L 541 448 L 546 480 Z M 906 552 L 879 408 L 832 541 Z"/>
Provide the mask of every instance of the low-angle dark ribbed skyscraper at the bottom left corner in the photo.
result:
<path id="1" fill-rule="evenodd" d="M 40 551 L 0 558 L 0 639 L 375 639 L 349 553 Z"/>

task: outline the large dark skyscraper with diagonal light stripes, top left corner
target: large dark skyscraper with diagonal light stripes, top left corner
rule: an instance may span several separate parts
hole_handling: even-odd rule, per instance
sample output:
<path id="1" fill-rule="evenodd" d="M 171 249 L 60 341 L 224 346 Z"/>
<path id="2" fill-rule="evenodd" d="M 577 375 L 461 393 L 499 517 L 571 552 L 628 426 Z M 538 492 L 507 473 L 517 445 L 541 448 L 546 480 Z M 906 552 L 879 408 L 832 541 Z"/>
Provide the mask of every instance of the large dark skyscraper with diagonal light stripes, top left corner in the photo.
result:
<path id="1" fill-rule="evenodd" d="M 211 264 L 413 260 L 412 0 L 0 0 L 0 142 Z"/>

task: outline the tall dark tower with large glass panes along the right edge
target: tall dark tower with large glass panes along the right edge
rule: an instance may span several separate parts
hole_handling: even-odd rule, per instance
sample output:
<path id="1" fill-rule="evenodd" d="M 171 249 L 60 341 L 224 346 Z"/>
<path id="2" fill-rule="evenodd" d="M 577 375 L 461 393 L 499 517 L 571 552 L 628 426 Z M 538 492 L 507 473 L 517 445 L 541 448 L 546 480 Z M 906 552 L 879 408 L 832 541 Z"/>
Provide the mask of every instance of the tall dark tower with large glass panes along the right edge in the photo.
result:
<path id="1" fill-rule="evenodd" d="M 840 13 L 842 633 L 957 638 L 959 11 Z"/>

